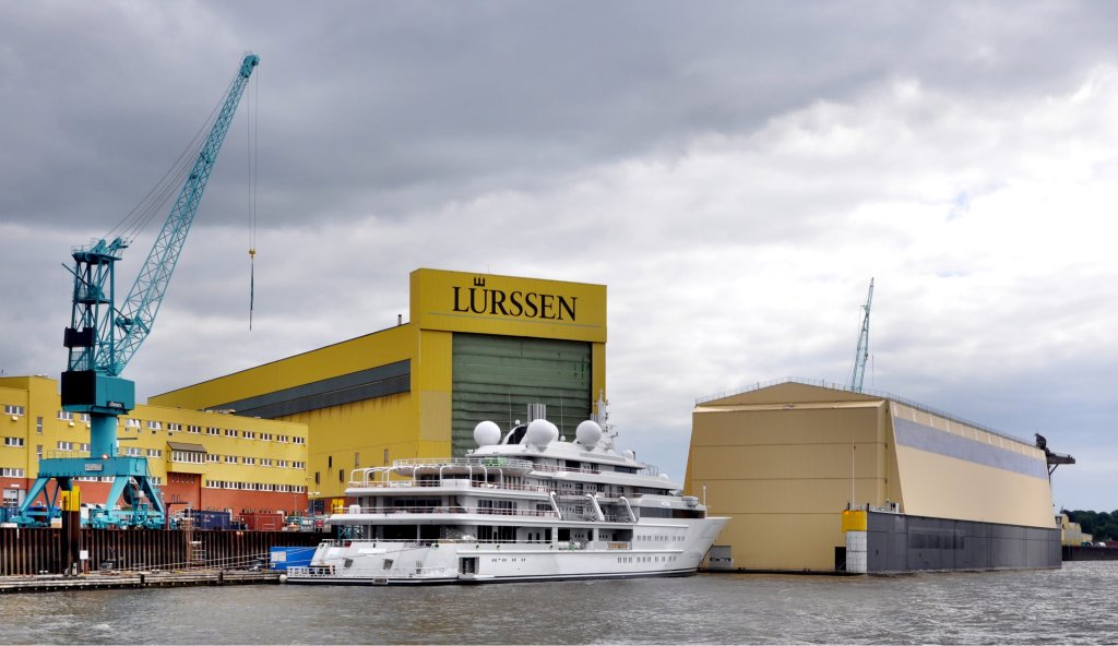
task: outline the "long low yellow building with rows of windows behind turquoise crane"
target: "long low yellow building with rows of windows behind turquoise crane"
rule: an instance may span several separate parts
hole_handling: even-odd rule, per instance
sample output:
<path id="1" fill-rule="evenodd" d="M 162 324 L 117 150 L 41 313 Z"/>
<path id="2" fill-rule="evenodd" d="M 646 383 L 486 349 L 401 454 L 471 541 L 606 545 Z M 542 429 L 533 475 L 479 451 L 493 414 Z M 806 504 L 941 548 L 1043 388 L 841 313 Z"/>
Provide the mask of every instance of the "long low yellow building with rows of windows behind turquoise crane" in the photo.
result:
<path id="1" fill-rule="evenodd" d="M 3 504 L 16 507 L 38 477 L 40 459 L 89 456 L 89 418 L 63 410 L 58 380 L 41 376 L 0 378 L 0 490 Z M 148 459 L 172 512 L 190 506 L 237 516 L 306 509 L 303 424 L 139 405 L 117 418 L 116 434 L 121 455 Z M 113 478 L 93 472 L 77 481 L 82 501 L 100 504 Z"/>

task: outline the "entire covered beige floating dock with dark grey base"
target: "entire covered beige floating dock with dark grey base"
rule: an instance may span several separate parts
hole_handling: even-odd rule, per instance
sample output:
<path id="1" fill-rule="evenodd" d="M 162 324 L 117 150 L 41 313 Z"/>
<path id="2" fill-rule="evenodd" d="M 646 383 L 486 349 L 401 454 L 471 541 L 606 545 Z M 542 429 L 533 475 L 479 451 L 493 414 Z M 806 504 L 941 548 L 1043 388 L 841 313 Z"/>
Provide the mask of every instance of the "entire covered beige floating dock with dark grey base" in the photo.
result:
<path id="1" fill-rule="evenodd" d="M 788 380 L 697 405 L 684 487 L 731 517 L 712 557 L 732 569 L 1052 568 L 1048 466 L 915 402 Z"/>

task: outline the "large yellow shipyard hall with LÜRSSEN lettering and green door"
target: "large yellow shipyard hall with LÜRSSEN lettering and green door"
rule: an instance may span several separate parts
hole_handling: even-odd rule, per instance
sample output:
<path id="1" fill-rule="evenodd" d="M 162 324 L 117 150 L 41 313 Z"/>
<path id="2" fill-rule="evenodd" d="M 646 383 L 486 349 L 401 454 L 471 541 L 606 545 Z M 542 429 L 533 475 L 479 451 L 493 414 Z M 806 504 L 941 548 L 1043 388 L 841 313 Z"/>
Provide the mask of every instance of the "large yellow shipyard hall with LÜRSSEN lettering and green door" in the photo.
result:
<path id="1" fill-rule="evenodd" d="M 417 269 L 395 327 L 153 397 L 305 425 L 306 486 L 343 503 L 350 471 L 462 456 L 482 420 L 546 403 L 561 433 L 605 391 L 606 287 Z"/>

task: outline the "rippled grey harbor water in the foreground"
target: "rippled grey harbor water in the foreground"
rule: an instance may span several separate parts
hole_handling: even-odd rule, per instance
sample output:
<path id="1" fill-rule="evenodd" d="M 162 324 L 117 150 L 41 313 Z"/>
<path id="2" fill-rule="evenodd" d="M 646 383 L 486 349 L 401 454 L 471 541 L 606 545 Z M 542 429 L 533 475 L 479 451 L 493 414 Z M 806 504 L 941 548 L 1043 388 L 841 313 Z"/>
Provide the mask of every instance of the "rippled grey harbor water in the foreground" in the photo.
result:
<path id="1" fill-rule="evenodd" d="M 3 644 L 1118 643 L 1118 562 L 893 577 L 0 596 Z"/>

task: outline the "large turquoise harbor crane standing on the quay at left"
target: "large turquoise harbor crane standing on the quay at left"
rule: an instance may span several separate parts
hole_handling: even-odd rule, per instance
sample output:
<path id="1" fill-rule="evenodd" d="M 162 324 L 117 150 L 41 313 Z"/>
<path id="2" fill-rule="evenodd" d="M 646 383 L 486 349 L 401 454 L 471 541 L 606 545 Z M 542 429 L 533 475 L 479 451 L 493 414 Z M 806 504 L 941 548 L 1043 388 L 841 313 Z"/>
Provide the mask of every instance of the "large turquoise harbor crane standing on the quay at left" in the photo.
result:
<path id="1" fill-rule="evenodd" d="M 54 496 L 59 491 L 73 491 L 76 478 L 94 476 L 111 477 L 113 484 L 105 509 L 91 517 L 92 524 L 148 528 L 164 524 L 167 506 L 152 479 L 148 458 L 133 455 L 139 453 L 136 450 L 120 454 L 117 418 L 135 406 L 135 383 L 121 378 L 121 372 L 151 333 L 221 143 L 248 78 L 259 61 L 255 54 L 247 54 L 241 60 L 171 213 L 120 307 L 116 306 L 115 263 L 131 240 L 122 237 L 111 241 L 101 239 L 89 247 L 74 249 L 73 307 L 63 342 L 69 351 L 69 361 L 61 374 L 61 403 L 68 414 L 88 416 L 89 455 L 40 460 L 39 475 L 16 522 L 38 524 L 44 521 L 44 514 L 30 507 L 45 492 L 48 497 L 45 516 L 49 521 Z M 57 482 L 54 496 L 46 488 L 50 481 Z M 122 495 L 132 511 L 113 510 Z"/>

